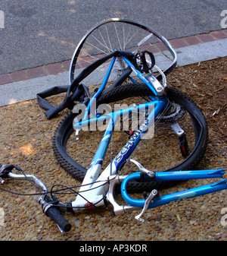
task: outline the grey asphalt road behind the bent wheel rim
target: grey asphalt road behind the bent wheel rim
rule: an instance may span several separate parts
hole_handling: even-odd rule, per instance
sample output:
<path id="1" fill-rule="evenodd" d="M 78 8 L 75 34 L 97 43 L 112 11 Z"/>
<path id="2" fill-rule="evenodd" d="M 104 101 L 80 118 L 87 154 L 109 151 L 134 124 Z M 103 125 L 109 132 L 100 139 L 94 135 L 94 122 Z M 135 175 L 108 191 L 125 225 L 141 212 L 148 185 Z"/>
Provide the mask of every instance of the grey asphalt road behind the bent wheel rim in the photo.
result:
<path id="1" fill-rule="evenodd" d="M 0 74 L 70 59 L 86 30 L 110 17 L 175 39 L 221 30 L 225 9 L 225 0 L 1 0 Z"/>

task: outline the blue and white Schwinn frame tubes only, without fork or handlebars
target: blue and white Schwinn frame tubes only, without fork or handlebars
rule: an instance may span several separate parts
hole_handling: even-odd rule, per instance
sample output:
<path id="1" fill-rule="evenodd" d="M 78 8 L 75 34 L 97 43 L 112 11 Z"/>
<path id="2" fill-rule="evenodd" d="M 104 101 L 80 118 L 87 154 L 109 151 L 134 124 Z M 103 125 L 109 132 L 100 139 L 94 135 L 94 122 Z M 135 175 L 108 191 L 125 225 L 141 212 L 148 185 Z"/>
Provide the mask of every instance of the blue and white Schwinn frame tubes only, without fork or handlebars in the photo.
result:
<path id="1" fill-rule="evenodd" d="M 154 95 L 157 96 L 157 91 L 154 89 L 151 82 L 148 81 L 145 75 L 141 74 L 140 71 L 136 70 L 134 65 L 132 65 L 132 63 L 129 62 L 129 60 L 126 57 L 122 55 L 120 57 L 123 58 L 126 64 L 128 64 L 133 71 L 135 71 L 135 73 L 141 79 L 141 81 L 143 81 L 145 84 L 148 85 L 152 93 L 154 93 Z M 110 72 L 113 68 L 113 64 L 116 61 L 116 59 L 117 57 L 115 56 L 113 57 L 113 60 L 110 62 L 110 67 L 107 71 L 106 76 L 104 77 L 104 81 L 101 84 L 101 87 L 99 88 L 97 93 L 95 93 L 95 96 L 92 97 L 92 99 L 90 100 L 86 113 L 84 115 L 84 118 L 82 119 L 82 122 L 73 124 L 73 128 L 75 130 L 79 130 L 80 128 L 84 128 L 86 125 L 91 124 L 92 122 L 98 122 L 104 119 L 109 119 L 107 123 L 106 131 L 104 132 L 101 143 L 98 147 L 97 152 L 95 153 L 92 163 L 89 166 L 89 169 L 86 172 L 86 176 L 82 182 L 82 187 L 79 190 L 79 195 L 77 196 L 76 201 L 72 202 L 72 207 L 84 207 L 86 204 L 88 204 L 88 201 L 84 198 L 89 198 L 90 204 L 95 204 L 96 206 L 98 206 L 99 204 L 104 204 L 103 194 L 107 193 L 108 177 L 110 175 L 117 174 L 117 172 L 120 169 L 120 166 L 122 166 L 123 163 L 126 162 L 129 156 L 131 156 L 133 150 L 135 150 L 135 147 L 138 145 L 139 141 L 141 140 L 141 137 L 143 137 L 145 132 L 148 131 L 148 128 L 151 128 L 152 125 L 154 125 L 154 119 L 168 104 L 168 100 L 166 96 L 162 96 L 162 97 L 154 97 L 155 100 L 151 100 L 150 103 L 145 103 L 145 104 L 136 106 L 136 109 L 138 110 L 138 112 L 140 112 L 141 110 L 145 111 L 145 109 L 148 109 L 149 107 L 151 109 L 151 106 L 154 106 L 154 108 L 152 108 L 152 111 L 148 115 L 148 118 L 145 120 L 144 124 L 142 125 L 142 128 L 138 128 L 138 130 L 135 131 L 135 134 L 129 139 L 129 141 L 120 151 L 120 153 L 117 154 L 117 156 L 114 158 L 112 163 L 110 163 L 109 166 L 107 166 L 107 168 L 104 169 L 104 171 L 101 173 L 101 175 L 99 175 L 101 171 L 101 165 L 103 163 L 104 156 L 107 151 L 107 147 L 110 144 L 110 138 L 112 136 L 114 126 L 117 123 L 117 119 L 120 118 L 120 115 L 125 115 L 126 113 L 129 113 L 135 110 L 135 106 L 132 106 L 131 108 L 122 109 L 117 112 L 111 112 L 110 114 L 107 114 L 101 117 L 88 119 L 89 113 L 92 113 L 92 116 L 96 116 L 94 109 L 92 109 L 92 105 L 94 101 L 98 98 L 98 96 L 101 94 L 101 92 L 104 90 L 104 88 L 106 87 L 108 77 L 110 76 Z M 154 78 L 154 80 L 155 79 L 156 78 Z M 158 81 L 155 81 L 155 82 L 159 83 Z M 161 84 L 160 84 L 160 87 L 161 87 Z M 91 189 L 92 189 L 92 194 L 89 191 Z"/>

